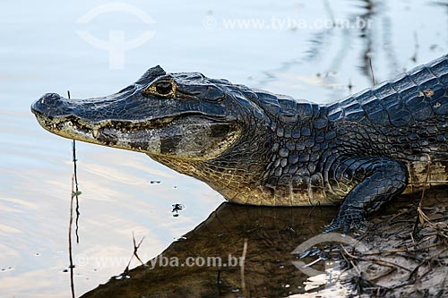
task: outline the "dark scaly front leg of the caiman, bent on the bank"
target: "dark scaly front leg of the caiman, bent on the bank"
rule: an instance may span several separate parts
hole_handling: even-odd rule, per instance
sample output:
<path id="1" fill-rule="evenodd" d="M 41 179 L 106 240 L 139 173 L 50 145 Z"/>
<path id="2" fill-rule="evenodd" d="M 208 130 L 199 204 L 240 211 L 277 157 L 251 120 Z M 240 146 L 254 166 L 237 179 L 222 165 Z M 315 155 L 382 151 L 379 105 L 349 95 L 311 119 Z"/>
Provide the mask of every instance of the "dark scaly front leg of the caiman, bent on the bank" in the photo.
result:
<path id="1" fill-rule="evenodd" d="M 408 169 L 391 158 L 340 158 L 328 171 L 334 192 L 353 185 L 339 214 L 325 232 L 341 229 L 344 234 L 359 226 L 366 214 L 401 194 L 408 184 Z M 341 188 L 342 187 L 342 188 Z"/>

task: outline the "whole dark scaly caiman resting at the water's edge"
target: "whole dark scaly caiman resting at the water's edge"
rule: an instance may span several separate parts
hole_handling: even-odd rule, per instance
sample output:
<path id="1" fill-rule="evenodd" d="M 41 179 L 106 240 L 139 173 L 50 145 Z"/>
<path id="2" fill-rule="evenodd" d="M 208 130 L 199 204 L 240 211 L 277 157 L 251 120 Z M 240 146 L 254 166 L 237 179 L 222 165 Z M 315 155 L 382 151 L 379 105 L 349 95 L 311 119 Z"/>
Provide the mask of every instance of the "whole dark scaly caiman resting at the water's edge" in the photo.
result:
<path id="1" fill-rule="evenodd" d="M 448 57 L 330 105 L 151 68 L 106 98 L 48 93 L 31 109 L 48 131 L 131 149 L 243 204 L 343 201 L 329 230 L 430 180 L 448 154 Z"/>

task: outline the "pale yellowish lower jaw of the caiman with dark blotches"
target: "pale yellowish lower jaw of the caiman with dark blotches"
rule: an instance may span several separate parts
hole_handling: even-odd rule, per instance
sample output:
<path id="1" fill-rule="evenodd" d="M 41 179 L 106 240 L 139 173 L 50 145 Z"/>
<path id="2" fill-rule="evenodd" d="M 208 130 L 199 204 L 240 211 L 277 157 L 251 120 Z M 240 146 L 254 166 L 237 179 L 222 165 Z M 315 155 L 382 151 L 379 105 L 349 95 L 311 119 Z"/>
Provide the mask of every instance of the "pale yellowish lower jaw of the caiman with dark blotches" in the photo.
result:
<path id="1" fill-rule="evenodd" d="M 234 124 L 203 115 L 168 116 L 140 123 L 88 123 L 73 116 L 36 116 L 47 131 L 67 139 L 190 161 L 216 158 L 242 133 Z"/>

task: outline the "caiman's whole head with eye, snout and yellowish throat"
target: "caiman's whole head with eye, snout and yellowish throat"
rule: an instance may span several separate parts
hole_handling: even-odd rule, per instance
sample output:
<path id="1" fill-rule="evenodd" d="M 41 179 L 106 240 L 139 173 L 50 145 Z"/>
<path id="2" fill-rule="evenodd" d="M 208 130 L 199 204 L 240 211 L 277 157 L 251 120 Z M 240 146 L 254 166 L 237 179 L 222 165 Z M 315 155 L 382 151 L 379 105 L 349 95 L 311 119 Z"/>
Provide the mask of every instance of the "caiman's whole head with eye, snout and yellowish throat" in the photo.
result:
<path id="1" fill-rule="evenodd" d="M 269 163 L 270 119 L 242 85 L 156 66 L 104 98 L 47 93 L 31 106 L 62 137 L 139 151 L 231 199 L 257 187 Z"/>

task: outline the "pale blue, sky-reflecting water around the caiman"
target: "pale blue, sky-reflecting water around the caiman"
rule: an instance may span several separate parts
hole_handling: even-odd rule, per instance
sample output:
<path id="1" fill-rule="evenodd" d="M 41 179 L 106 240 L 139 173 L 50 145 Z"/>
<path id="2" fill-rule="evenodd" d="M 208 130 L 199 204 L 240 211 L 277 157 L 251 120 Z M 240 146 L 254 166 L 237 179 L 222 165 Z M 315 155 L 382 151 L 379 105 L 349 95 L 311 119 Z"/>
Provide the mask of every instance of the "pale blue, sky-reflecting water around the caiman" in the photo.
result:
<path id="1" fill-rule="evenodd" d="M 0 4 L 2 297 L 70 294 L 65 270 L 71 142 L 42 130 L 30 114 L 30 103 L 43 93 L 110 94 L 160 64 L 168 72 L 199 71 L 326 103 L 372 86 L 369 58 L 375 80 L 383 81 L 444 55 L 448 46 L 443 2 L 128 1 L 122 8 L 131 5 L 134 14 L 111 11 L 79 21 L 112 4 Z M 339 19 L 371 21 L 371 27 L 318 25 Z M 237 25 L 230 28 L 229 21 Z M 126 40 L 147 31 L 155 35 L 125 51 L 122 67 L 111 69 L 108 52 L 90 45 L 80 31 L 103 40 L 111 32 L 122 32 Z M 139 252 L 150 260 L 223 201 L 205 184 L 142 154 L 79 142 L 77 148 L 82 191 L 80 243 L 73 245 L 77 294 L 123 271 L 133 252 L 133 233 L 137 240 L 145 237 Z M 185 205 L 179 217 L 170 212 L 175 203 Z M 138 264 L 133 260 L 131 267 Z"/>

